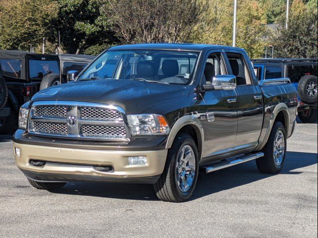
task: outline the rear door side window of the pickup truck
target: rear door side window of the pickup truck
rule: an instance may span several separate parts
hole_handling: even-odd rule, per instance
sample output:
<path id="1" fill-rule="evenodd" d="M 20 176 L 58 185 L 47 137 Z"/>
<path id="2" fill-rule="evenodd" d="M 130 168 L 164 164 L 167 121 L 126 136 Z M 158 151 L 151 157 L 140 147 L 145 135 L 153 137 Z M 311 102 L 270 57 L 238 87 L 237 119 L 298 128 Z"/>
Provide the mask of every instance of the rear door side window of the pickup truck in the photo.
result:
<path id="1" fill-rule="evenodd" d="M 227 56 L 230 61 L 232 73 L 237 77 L 237 84 L 238 85 L 252 84 L 253 82 L 249 75 L 249 71 L 246 66 L 246 63 L 243 60 L 243 56 L 240 54 L 232 54 L 232 53 L 228 53 Z"/>

